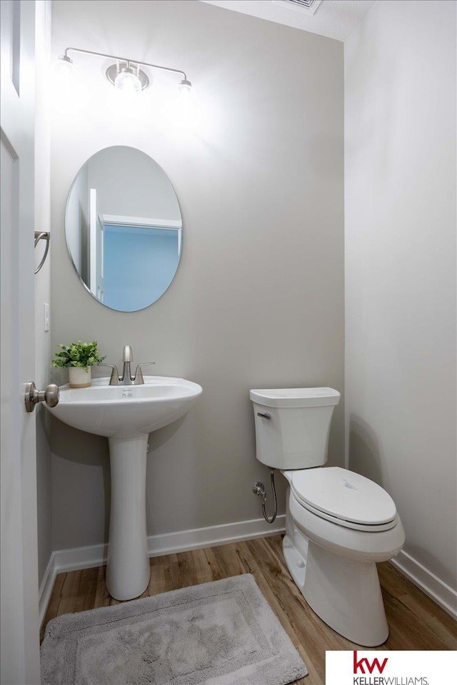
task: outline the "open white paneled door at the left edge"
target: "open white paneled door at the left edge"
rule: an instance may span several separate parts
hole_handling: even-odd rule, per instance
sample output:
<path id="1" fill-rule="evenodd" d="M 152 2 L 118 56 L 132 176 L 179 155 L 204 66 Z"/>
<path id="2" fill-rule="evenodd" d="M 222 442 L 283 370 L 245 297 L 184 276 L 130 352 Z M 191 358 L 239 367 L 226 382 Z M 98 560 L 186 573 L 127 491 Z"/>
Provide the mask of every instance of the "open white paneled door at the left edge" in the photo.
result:
<path id="1" fill-rule="evenodd" d="M 37 685 L 34 0 L 1 0 L 1 684 Z"/>

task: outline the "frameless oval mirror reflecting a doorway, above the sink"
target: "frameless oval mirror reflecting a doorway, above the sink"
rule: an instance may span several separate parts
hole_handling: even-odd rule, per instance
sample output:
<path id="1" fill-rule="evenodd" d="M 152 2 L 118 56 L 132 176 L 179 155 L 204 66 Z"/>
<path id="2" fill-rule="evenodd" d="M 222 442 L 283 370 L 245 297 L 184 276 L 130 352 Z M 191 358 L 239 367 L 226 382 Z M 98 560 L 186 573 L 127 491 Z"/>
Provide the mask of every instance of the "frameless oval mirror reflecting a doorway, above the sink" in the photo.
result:
<path id="1" fill-rule="evenodd" d="M 105 148 L 84 164 L 69 192 L 65 233 L 81 283 L 119 312 L 159 300 L 181 258 L 174 188 L 159 164 L 136 148 Z"/>

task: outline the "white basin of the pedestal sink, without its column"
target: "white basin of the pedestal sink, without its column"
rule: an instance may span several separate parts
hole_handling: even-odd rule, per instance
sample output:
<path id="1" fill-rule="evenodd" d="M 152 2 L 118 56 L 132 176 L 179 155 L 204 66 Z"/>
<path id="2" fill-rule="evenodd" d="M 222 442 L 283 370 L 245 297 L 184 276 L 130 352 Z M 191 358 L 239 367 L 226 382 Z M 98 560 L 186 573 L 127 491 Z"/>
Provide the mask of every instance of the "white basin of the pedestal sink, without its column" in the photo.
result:
<path id="1" fill-rule="evenodd" d="M 95 435 L 134 437 L 184 416 L 201 395 L 201 386 L 184 378 L 145 376 L 144 385 L 108 385 L 96 378 L 90 387 L 60 387 L 59 404 L 48 407 L 58 419 Z"/>

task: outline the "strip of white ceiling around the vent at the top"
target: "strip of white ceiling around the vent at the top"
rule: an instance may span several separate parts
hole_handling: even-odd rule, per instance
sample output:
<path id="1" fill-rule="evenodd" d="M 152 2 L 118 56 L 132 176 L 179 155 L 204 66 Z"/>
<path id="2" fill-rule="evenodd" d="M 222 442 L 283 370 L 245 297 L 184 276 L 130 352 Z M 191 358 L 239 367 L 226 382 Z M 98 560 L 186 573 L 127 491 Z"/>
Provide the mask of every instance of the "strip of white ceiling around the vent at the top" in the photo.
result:
<path id="1" fill-rule="evenodd" d="M 293 5 L 274 0 L 201 0 L 210 5 L 224 7 L 260 19 L 276 21 L 277 24 L 293 26 L 294 29 L 311 31 L 338 41 L 345 41 L 374 0 L 323 0 L 316 14 Z"/>

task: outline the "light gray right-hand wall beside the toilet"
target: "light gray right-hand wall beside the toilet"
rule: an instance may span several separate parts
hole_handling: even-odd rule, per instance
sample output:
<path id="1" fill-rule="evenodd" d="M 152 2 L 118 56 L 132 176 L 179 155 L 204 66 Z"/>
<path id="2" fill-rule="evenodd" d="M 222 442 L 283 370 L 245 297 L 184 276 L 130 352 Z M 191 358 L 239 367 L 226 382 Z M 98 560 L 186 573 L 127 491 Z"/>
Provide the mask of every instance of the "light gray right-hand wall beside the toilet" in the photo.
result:
<path id="1" fill-rule="evenodd" d="M 455 587 L 456 4 L 378 1 L 344 56 L 348 466 Z"/>

